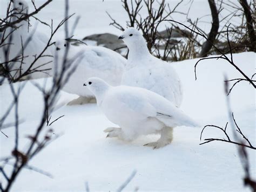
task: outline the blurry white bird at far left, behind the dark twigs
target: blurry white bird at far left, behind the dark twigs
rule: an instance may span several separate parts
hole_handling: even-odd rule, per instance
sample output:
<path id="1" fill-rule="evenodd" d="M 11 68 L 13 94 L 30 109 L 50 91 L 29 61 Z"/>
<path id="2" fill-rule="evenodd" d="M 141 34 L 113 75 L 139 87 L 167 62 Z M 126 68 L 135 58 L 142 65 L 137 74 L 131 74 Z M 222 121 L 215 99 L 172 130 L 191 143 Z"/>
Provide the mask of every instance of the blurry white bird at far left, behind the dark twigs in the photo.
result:
<path id="1" fill-rule="evenodd" d="M 14 12 L 17 13 L 16 17 L 21 17 L 24 13 L 29 13 L 29 5 L 24 0 L 12 0 L 12 7 L 14 8 Z M 12 17 L 12 21 L 17 20 L 16 17 Z M 19 59 L 19 61 L 9 63 L 8 65 L 11 71 L 11 76 L 16 79 L 21 74 L 30 70 L 33 71 L 33 73 L 30 73 L 24 78 L 36 79 L 49 77 L 51 75 L 53 60 L 52 55 L 55 50 L 54 46 L 48 47 L 48 49 L 46 49 L 46 51 L 43 53 L 44 57 L 39 58 L 35 64 L 31 66 L 35 60 L 34 56 L 39 56 L 39 54 L 46 47 L 49 38 L 46 37 L 44 33 L 41 33 L 36 29 L 31 29 L 31 27 L 28 28 L 28 20 L 23 20 L 22 22 L 16 24 L 16 27 L 17 29 L 9 37 L 9 33 L 13 31 L 14 28 L 7 28 L 6 31 L 2 33 L 4 38 L 8 37 L 5 40 L 5 43 L 11 44 L 7 58 L 5 58 L 4 51 L 8 46 L 3 46 L 0 50 L 0 58 L 2 62 L 4 62 L 12 60 L 17 56 L 22 57 L 22 47 L 24 48 L 24 58 Z M 26 43 L 28 44 L 26 45 Z"/>

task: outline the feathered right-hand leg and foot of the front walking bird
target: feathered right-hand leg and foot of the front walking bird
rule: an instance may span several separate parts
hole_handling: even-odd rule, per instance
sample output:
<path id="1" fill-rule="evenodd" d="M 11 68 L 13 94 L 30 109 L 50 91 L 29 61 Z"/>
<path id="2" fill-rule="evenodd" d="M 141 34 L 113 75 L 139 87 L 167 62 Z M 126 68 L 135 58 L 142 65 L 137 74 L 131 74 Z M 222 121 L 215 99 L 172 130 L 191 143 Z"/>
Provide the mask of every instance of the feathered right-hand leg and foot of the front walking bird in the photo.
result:
<path id="1" fill-rule="evenodd" d="M 158 149 L 160 147 L 164 147 L 172 142 L 173 139 L 173 128 L 172 127 L 164 127 L 161 129 L 161 136 L 157 142 L 147 143 L 144 146 L 153 147 L 153 149 Z"/>

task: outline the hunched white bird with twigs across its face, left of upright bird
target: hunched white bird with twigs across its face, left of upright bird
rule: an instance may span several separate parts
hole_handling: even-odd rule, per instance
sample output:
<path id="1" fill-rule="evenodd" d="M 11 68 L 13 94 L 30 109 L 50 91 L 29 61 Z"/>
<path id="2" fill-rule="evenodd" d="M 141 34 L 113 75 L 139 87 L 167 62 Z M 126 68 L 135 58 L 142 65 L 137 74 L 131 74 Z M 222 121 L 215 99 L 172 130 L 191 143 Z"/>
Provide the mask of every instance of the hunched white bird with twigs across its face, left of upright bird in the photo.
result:
<path id="1" fill-rule="evenodd" d="M 62 58 L 65 54 L 68 41 L 60 40 L 56 42 L 55 45 L 58 58 Z M 63 91 L 77 94 L 79 95 L 79 98 L 70 101 L 68 105 L 95 102 L 93 93 L 87 88 L 81 89 L 79 86 L 90 77 L 102 78 L 113 86 L 120 85 L 127 60 L 119 53 L 99 46 L 70 45 L 67 58 L 68 60 L 72 60 L 71 65 L 77 62 L 76 58 L 78 58 L 78 55 L 79 57 L 82 57 L 82 59 L 76 64 L 77 68 L 73 71 L 68 82 L 64 85 Z M 60 71 L 61 68 L 62 62 L 60 60 L 57 62 L 57 71 Z M 69 70 L 71 70 L 71 68 Z"/>

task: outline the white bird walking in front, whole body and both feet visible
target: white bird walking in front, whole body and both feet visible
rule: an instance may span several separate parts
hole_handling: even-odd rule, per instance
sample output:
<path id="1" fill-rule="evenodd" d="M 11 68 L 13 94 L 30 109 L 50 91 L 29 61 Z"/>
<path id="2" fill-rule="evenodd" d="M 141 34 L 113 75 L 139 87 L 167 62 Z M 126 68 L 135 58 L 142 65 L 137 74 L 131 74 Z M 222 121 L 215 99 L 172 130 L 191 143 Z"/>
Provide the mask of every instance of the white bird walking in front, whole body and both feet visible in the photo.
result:
<path id="1" fill-rule="evenodd" d="M 107 137 L 134 140 L 139 135 L 160 133 L 157 142 L 147 143 L 153 148 L 164 147 L 173 139 L 173 127 L 197 126 L 180 108 L 152 91 L 140 87 L 110 86 L 104 80 L 93 77 L 84 84 L 97 99 L 97 105 L 114 124 Z"/>

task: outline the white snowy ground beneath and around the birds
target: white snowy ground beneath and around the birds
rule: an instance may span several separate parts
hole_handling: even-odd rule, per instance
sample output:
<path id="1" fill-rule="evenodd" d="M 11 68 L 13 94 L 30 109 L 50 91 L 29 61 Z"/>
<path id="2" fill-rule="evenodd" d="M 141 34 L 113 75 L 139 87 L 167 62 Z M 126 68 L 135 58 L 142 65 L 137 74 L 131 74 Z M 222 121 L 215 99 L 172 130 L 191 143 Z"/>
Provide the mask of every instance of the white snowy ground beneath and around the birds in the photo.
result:
<path id="1" fill-rule="evenodd" d="M 252 52 L 234 54 L 234 62 L 251 77 L 255 56 Z M 184 85 L 181 108 L 202 125 L 224 126 L 227 121 L 224 74 L 228 78 L 241 76 L 224 60 L 208 60 L 198 65 L 198 80 L 195 81 L 193 66 L 197 60 L 172 63 Z M 45 79 L 36 81 L 43 83 Z M 0 86 L 0 115 L 11 102 L 10 95 L 8 85 Z M 67 103 L 76 97 L 61 92 L 59 103 Z M 26 136 L 35 132 L 42 111 L 41 102 L 40 93 L 28 82 L 19 108 L 21 119 L 25 120 L 20 127 L 21 149 L 29 141 Z M 256 145 L 255 90 L 252 86 L 240 83 L 234 87 L 231 105 L 238 125 Z M 244 173 L 235 146 L 223 142 L 199 146 L 201 128 L 175 128 L 171 145 L 153 150 L 143 145 L 155 141 L 156 135 L 142 136 L 131 143 L 106 139 L 103 130 L 112 123 L 95 104 L 64 105 L 52 114 L 53 118 L 60 115 L 65 116 L 53 124 L 53 128 L 62 136 L 29 163 L 51 173 L 53 178 L 24 169 L 14 184 L 14 191 L 82 191 L 85 190 L 85 182 L 93 191 L 113 191 L 133 170 L 137 173 L 126 190 L 249 191 L 242 186 Z M 13 116 L 8 121 L 12 120 Z M 9 155 L 14 146 L 14 129 L 4 129 L 4 133 L 9 138 L 0 134 L 1 157 Z M 212 136 L 223 138 L 224 135 L 209 128 L 203 138 Z M 256 175 L 256 153 L 253 150 L 248 152 L 251 174 Z M 3 181 L 2 177 L 0 180 Z"/>

